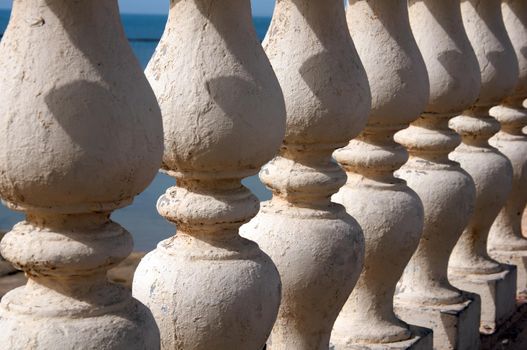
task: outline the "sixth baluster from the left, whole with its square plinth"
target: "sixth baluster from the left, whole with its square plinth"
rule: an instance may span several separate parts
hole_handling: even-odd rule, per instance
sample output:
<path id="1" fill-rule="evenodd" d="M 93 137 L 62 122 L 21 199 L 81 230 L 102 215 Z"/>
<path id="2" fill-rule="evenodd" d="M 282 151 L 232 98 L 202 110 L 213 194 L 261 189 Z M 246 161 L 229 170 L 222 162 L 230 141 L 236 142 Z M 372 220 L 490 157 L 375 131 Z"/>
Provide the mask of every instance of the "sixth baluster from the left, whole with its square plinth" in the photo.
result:
<path id="1" fill-rule="evenodd" d="M 452 253 L 449 277 L 456 287 L 480 295 L 480 330 L 492 333 L 514 311 L 516 268 L 501 265 L 487 254 L 490 227 L 512 185 L 509 160 L 488 143 L 500 128 L 489 109 L 513 92 L 518 62 L 505 31 L 500 0 L 463 0 L 461 11 L 478 58 L 481 90 L 477 102 L 451 121 L 463 141 L 451 158 L 474 179 L 476 206 Z"/>

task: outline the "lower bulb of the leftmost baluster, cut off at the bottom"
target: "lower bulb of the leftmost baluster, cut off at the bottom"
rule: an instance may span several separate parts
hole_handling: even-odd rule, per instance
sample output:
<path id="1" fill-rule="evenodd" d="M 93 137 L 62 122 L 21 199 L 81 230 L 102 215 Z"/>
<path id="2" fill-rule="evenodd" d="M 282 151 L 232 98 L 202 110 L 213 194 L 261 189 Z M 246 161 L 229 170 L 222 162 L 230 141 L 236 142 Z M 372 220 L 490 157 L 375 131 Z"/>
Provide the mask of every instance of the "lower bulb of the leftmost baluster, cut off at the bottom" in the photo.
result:
<path id="1" fill-rule="evenodd" d="M 122 287 L 114 289 L 129 296 Z M 114 304 L 89 306 L 92 300 L 75 304 L 57 293 L 47 307 L 38 308 L 28 306 L 26 301 L 38 296 L 26 291 L 27 286 L 19 287 L 2 299 L 0 350 L 159 349 L 154 319 L 137 300 L 120 295 Z"/>

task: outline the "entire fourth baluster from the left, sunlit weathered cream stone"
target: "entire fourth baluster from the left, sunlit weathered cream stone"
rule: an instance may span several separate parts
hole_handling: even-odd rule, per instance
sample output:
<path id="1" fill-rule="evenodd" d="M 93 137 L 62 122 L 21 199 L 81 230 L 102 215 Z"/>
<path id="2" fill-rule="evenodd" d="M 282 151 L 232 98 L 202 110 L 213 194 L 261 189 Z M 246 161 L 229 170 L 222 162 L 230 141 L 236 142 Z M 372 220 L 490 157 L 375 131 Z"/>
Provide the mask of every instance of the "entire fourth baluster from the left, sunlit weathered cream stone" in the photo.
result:
<path id="1" fill-rule="evenodd" d="M 393 176 L 408 159 L 393 135 L 428 101 L 426 67 L 410 30 L 406 0 L 352 0 L 347 18 L 373 103 L 366 128 L 334 153 L 348 181 L 333 198 L 361 225 L 366 253 L 331 342 L 336 349 L 432 349 L 429 330 L 410 328 L 393 312 L 395 286 L 423 229 L 421 200 Z"/>

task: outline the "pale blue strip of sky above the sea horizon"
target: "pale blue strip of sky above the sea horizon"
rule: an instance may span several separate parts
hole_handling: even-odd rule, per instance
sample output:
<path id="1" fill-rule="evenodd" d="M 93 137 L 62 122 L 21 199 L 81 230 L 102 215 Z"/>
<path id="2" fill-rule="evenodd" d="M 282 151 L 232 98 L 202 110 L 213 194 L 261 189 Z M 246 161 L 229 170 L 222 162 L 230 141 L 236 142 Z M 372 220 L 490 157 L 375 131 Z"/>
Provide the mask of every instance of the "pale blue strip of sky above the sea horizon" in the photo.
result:
<path id="1" fill-rule="evenodd" d="M 253 14 L 270 16 L 274 0 L 251 0 Z M 12 0 L 0 0 L 0 8 L 10 8 Z M 169 0 L 119 0 L 121 12 L 125 13 L 166 13 Z"/>

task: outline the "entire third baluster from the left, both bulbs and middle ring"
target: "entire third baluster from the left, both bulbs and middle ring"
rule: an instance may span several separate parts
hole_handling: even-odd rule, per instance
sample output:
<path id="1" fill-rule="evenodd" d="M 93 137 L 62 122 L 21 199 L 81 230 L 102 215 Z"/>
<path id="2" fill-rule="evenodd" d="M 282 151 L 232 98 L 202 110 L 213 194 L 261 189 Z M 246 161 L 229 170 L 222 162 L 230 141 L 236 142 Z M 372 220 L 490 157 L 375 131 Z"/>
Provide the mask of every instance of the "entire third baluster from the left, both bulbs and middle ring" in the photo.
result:
<path id="1" fill-rule="evenodd" d="M 330 200 L 346 182 L 331 154 L 364 127 L 368 83 L 341 0 L 278 1 L 264 47 L 285 96 L 286 137 L 260 172 L 273 198 L 243 235 L 282 278 L 269 349 L 327 349 L 364 252 L 360 227 Z"/>

